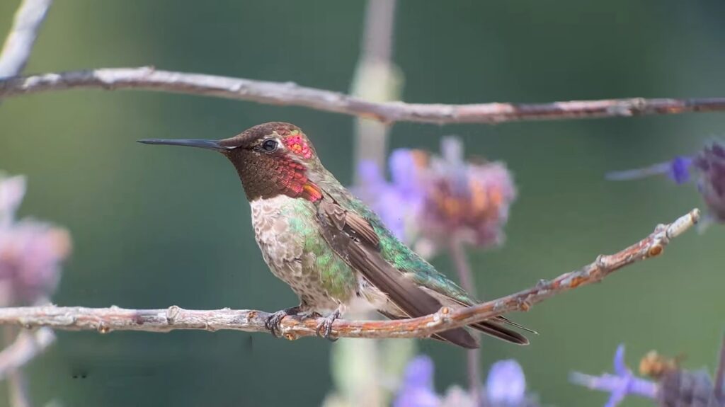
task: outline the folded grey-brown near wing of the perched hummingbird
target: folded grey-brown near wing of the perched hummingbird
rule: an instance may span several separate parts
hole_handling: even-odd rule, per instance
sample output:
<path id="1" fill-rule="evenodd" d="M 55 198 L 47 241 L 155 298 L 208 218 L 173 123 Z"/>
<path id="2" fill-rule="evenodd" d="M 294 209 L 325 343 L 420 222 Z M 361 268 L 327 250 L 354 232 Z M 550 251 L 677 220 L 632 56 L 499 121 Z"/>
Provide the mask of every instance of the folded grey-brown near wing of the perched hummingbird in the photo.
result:
<path id="1" fill-rule="evenodd" d="M 328 197 L 320 201 L 318 216 L 322 235 L 338 256 L 408 316 L 425 316 L 441 309 L 436 298 L 383 259 L 378 235 L 363 217 L 343 209 Z M 436 337 L 463 348 L 479 347 L 476 339 L 463 328 L 439 332 Z"/>

